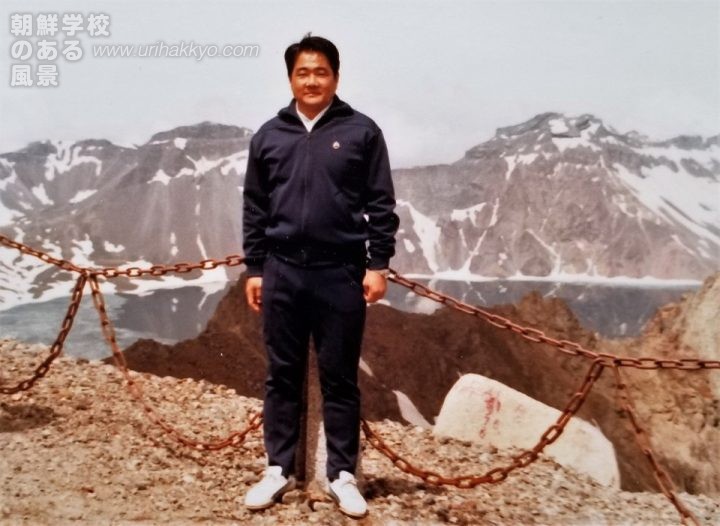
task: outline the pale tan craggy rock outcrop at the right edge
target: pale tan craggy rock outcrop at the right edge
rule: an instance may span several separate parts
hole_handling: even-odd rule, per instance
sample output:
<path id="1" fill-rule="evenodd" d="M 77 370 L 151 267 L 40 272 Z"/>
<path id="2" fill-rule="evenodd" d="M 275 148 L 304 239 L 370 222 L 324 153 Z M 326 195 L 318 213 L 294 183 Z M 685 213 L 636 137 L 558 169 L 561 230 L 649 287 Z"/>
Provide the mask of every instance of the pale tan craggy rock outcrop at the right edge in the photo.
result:
<path id="1" fill-rule="evenodd" d="M 718 360 L 720 275 L 660 309 L 632 340 L 599 350 L 633 356 Z M 690 492 L 720 494 L 720 370 L 624 371 L 659 460 Z"/>

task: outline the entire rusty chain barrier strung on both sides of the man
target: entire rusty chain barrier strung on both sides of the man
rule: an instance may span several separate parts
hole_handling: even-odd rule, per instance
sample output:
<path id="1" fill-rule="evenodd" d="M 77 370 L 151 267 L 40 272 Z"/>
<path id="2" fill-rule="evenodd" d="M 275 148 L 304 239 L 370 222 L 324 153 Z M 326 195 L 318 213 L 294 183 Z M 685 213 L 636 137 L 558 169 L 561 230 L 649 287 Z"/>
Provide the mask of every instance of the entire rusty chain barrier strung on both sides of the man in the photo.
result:
<path id="1" fill-rule="evenodd" d="M 103 268 L 90 268 L 90 267 L 79 267 L 70 261 L 58 259 L 50 256 L 47 253 L 38 251 L 22 243 L 18 243 L 12 239 L 9 239 L 0 234 L 0 245 L 4 245 L 8 248 L 19 250 L 21 253 L 34 256 L 39 258 L 45 263 L 55 265 L 63 270 L 78 272 L 80 277 L 75 284 L 72 292 L 72 298 L 68 307 L 67 314 L 63 320 L 60 333 L 57 339 L 51 347 L 49 356 L 37 367 L 33 376 L 27 380 L 23 380 L 14 387 L 0 387 L 0 394 L 12 394 L 18 391 L 30 389 L 35 382 L 47 374 L 53 360 L 62 352 L 64 341 L 72 328 L 74 317 L 77 313 L 80 301 L 82 299 L 83 289 L 87 281 L 90 282 L 90 288 L 92 291 L 92 298 L 95 308 L 100 318 L 100 325 L 102 328 L 103 335 L 108 345 L 110 346 L 113 360 L 116 366 L 121 371 L 128 390 L 135 401 L 141 405 L 143 411 L 147 417 L 156 425 L 158 425 L 163 431 L 172 436 L 178 442 L 192 447 L 197 450 L 218 450 L 227 446 L 238 446 L 240 445 L 246 436 L 253 430 L 258 429 L 262 425 L 262 413 L 255 413 L 251 416 L 247 426 L 237 432 L 233 432 L 224 439 L 215 441 L 200 441 L 188 437 L 183 434 L 175 427 L 167 423 L 160 415 L 157 414 L 155 409 L 150 406 L 146 401 L 142 392 L 141 385 L 132 378 L 130 371 L 127 368 L 125 356 L 120 350 L 115 330 L 112 322 L 107 314 L 105 308 L 105 302 L 100 290 L 97 277 L 103 276 L 107 279 L 116 277 L 141 277 L 141 276 L 163 276 L 168 273 L 187 273 L 193 270 L 212 270 L 221 265 L 225 266 L 238 266 L 243 264 L 245 258 L 240 255 L 231 255 L 221 260 L 215 259 L 204 259 L 198 263 L 176 263 L 172 265 L 152 265 L 149 268 L 141 267 L 129 267 L 126 269 L 119 269 L 113 267 Z M 505 480 L 509 473 L 512 471 L 526 467 L 535 460 L 537 460 L 540 453 L 549 444 L 557 440 L 562 434 L 565 426 L 570 421 L 573 415 L 577 413 L 580 407 L 585 402 L 590 390 L 595 384 L 596 380 L 600 377 L 605 367 L 611 367 L 617 378 L 617 389 L 619 393 L 622 393 L 621 407 L 628 415 L 629 420 L 632 424 L 633 431 L 635 433 L 636 440 L 643 452 L 650 462 L 655 478 L 661 488 L 663 494 L 673 503 L 675 508 L 681 515 L 683 524 L 686 521 L 691 521 L 694 524 L 699 524 L 697 518 L 682 504 L 675 493 L 674 485 L 670 480 L 667 472 L 658 464 L 655 456 L 652 452 L 649 438 L 646 432 L 640 426 L 633 408 L 632 400 L 629 396 L 628 390 L 622 378 L 620 376 L 620 367 L 632 367 L 636 369 L 679 369 L 686 371 L 700 370 L 700 369 L 720 369 L 720 360 L 697 360 L 697 359 L 660 359 L 654 357 L 622 357 L 613 354 L 596 353 L 585 349 L 582 345 L 569 340 L 558 340 L 547 336 L 543 331 L 531 327 L 524 327 L 518 325 L 511 320 L 504 318 L 500 315 L 493 314 L 489 311 L 464 303 L 451 296 L 447 296 L 438 291 L 435 291 L 417 281 L 410 280 L 400 274 L 394 269 L 390 269 L 390 275 L 388 278 L 390 281 L 397 283 L 398 285 L 404 286 L 410 289 L 415 294 L 431 299 L 438 303 L 441 303 L 454 310 L 469 314 L 472 316 L 479 317 L 485 320 L 491 325 L 514 332 L 522 338 L 534 342 L 544 343 L 556 348 L 558 351 L 568 354 L 570 356 L 582 356 L 583 358 L 593 360 L 592 365 L 585 375 L 585 379 L 581 384 L 579 390 L 571 397 L 567 406 L 563 410 L 557 421 L 551 425 L 540 437 L 538 443 L 532 449 L 525 450 L 522 453 L 513 457 L 512 463 L 505 467 L 498 467 L 491 469 L 483 475 L 464 475 L 458 477 L 448 477 L 432 471 L 424 470 L 414 466 L 408 460 L 395 453 L 369 426 L 366 420 L 361 421 L 362 429 L 368 439 L 368 442 L 385 455 L 397 468 L 400 470 L 417 476 L 425 482 L 432 485 L 453 485 L 458 488 L 473 488 L 479 484 L 484 483 L 498 483 Z"/>

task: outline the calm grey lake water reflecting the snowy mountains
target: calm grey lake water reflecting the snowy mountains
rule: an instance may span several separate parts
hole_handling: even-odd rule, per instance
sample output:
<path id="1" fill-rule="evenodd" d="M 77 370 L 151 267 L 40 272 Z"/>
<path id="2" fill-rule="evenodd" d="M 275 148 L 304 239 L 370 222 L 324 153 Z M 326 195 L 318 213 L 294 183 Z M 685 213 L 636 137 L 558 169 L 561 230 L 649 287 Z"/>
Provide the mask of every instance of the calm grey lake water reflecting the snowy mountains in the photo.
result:
<path id="1" fill-rule="evenodd" d="M 427 280 L 418 281 L 428 284 Z M 638 334 L 658 307 L 677 301 L 683 294 L 698 288 L 691 285 L 631 287 L 505 280 L 472 283 L 438 280 L 429 284 L 444 294 L 481 307 L 515 303 L 533 290 L 546 297 L 562 298 L 583 326 L 605 337 Z M 105 300 L 122 347 L 139 338 L 174 343 L 193 338 L 204 329 L 231 285 L 228 283 L 220 290 L 215 287 L 216 292 L 210 294 L 202 286 L 195 285 L 155 290 L 143 296 L 107 295 Z M 430 313 L 437 308 L 434 302 L 392 283 L 387 300 L 392 307 L 409 312 Z M 67 299 L 55 299 L 0 311 L 0 338 L 50 345 L 58 333 L 67 304 Z M 83 297 L 65 349 L 70 355 L 90 359 L 110 354 L 89 290 Z"/>

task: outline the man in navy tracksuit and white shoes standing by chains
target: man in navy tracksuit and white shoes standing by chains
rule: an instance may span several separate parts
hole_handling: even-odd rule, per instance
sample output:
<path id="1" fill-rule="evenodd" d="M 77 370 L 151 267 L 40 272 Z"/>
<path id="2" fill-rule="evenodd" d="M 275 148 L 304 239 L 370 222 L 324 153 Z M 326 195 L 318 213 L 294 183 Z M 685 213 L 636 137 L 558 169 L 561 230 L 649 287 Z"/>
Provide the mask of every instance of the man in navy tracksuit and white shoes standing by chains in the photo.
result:
<path id="1" fill-rule="evenodd" d="M 263 314 L 265 476 L 246 495 L 272 506 L 295 487 L 302 385 L 310 336 L 317 351 L 327 436 L 328 491 L 353 517 L 357 489 L 366 302 L 385 295 L 398 217 L 383 134 L 335 94 L 335 45 L 305 36 L 285 51 L 293 100 L 252 138 L 243 205 L 246 286 Z M 369 257 L 368 257 L 369 252 Z"/>

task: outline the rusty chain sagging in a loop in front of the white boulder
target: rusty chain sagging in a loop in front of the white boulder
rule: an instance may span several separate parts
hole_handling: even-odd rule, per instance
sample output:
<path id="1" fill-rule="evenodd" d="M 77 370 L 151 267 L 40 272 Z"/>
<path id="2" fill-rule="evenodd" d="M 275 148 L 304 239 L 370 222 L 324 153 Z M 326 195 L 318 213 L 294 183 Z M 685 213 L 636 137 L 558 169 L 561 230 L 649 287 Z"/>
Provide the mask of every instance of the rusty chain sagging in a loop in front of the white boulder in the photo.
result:
<path id="1" fill-rule="evenodd" d="M 509 465 L 493 468 L 483 475 L 461 475 L 450 477 L 447 475 L 441 475 L 434 471 L 419 468 L 393 451 L 393 449 L 388 446 L 375 431 L 372 430 L 367 421 L 363 419 L 361 421 L 361 425 L 370 445 L 385 455 L 395 467 L 409 475 L 419 477 L 428 484 L 432 484 L 434 486 L 455 486 L 463 489 L 474 488 L 480 484 L 496 484 L 505 480 L 508 474 L 512 471 L 518 468 L 524 468 L 535 462 L 545 447 L 552 444 L 560 437 L 565 429 L 565 426 L 570 421 L 570 418 L 572 418 L 572 416 L 575 415 L 582 407 L 585 399 L 590 393 L 590 389 L 592 389 L 592 386 L 595 385 L 595 382 L 600 377 L 604 369 L 605 365 L 601 360 L 598 359 L 593 361 L 577 392 L 572 396 L 572 398 L 570 398 L 570 401 L 555 423 L 547 428 L 547 430 L 542 434 L 538 443 L 532 449 L 526 449 L 520 454 L 513 456 L 512 462 Z"/>

